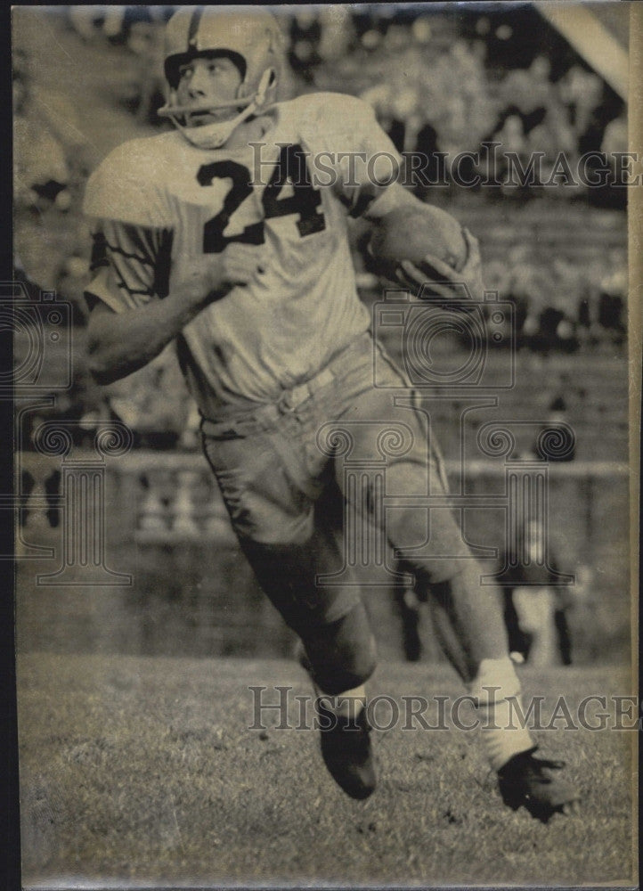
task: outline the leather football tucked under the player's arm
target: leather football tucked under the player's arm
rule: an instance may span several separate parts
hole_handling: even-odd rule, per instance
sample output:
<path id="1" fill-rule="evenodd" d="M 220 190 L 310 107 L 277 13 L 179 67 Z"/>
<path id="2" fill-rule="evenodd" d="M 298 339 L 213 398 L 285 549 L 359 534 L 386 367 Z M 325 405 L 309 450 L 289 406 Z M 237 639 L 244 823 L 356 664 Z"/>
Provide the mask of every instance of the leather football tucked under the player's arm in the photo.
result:
<path id="1" fill-rule="evenodd" d="M 457 272 L 467 262 L 467 242 L 460 223 L 430 204 L 395 208 L 382 217 L 373 226 L 369 249 L 378 272 L 394 281 L 401 260 L 419 264 L 427 254 L 433 254 Z"/>

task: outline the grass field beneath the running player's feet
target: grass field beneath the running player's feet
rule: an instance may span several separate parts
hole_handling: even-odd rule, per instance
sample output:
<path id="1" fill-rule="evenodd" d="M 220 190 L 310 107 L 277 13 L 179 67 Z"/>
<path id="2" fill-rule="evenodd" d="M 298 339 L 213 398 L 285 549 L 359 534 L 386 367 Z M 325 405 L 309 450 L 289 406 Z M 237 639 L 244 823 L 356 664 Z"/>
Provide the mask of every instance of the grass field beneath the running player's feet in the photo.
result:
<path id="1" fill-rule="evenodd" d="M 476 732 L 455 729 L 376 732 L 378 791 L 352 801 L 316 732 L 277 731 L 276 713 L 248 729 L 249 684 L 308 692 L 294 663 L 30 654 L 18 670 L 25 887 L 634 881 L 631 733 L 540 732 L 584 798 L 544 825 L 501 804 Z M 523 682 L 545 711 L 629 690 L 614 669 Z M 371 691 L 462 692 L 445 667 L 391 664 Z"/>

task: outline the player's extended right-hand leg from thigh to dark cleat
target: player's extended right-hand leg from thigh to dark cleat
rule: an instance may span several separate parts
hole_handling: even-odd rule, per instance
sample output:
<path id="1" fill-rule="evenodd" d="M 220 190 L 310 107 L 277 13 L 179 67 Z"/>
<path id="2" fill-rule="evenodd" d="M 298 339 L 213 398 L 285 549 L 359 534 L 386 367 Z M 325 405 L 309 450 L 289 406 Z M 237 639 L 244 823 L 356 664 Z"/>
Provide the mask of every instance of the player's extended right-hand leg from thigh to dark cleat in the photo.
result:
<path id="1" fill-rule="evenodd" d="M 412 431 L 413 445 L 387 462 L 387 495 L 445 495 L 444 473 L 439 457 L 427 449 L 427 431 L 420 413 L 397 413 Z M 354 397 L 350 417 L 355 423 L 351 458 L 373 454 L 375 423 L 393 423 L 386 394 L 364 388 Z M 381 432 L 381 431 L 380 431 Z M 342 474 L 338 472 L 338 480 Z M 350 498 L 349 492 L 346 497 Z M 370 500 L 370 519 L 372 511 Z M 354 506 L 355 508 L 358 505 Z M 402 552 L 416 576 L 419 593 L 432 602 L 436 630 L 444 650 L 468 691 L 476 700 L 486 755 L 498 772 L 501 792 L 508 804 L 527 806 L 543 816 L 562 809 L 577 797 L 575 790 L 558 776 L 558 764 L 533 758 L 535 749 L 527 728 L 512 722 L 511 704 L 520 695 L 520 683 L 511 659 L 504 625 L 501 594 L 492 585 L 481 584 L 481 570 L 463 542 L 451 511 L 427 511 L 411 507 L 378 511 L 389 542 Z M 427 526 L 430 538 L 427 542 Z M 415 550 L 413 550 L 415 549 Z M 418 554 L 421 553 L 421 556 Z M 515 711 L 515 709 L 514 709 Z"/>

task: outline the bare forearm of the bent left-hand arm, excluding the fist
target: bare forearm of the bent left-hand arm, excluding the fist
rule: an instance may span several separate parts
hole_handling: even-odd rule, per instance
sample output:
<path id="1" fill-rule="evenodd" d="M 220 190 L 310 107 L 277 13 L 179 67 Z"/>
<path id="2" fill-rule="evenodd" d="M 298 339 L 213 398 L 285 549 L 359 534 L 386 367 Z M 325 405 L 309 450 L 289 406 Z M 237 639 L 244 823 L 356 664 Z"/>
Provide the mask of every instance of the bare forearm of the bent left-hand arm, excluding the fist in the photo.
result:
<path id="1" fill-rule="evenodd" d="M 89 370 L 94 380 L 110 384 L 138 371 L 159 356 L 201 307 L 169 295 L 125 313 L 94 312 L 87 330 Z"/>

